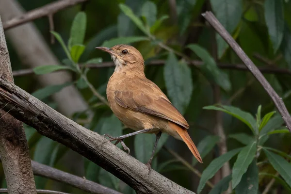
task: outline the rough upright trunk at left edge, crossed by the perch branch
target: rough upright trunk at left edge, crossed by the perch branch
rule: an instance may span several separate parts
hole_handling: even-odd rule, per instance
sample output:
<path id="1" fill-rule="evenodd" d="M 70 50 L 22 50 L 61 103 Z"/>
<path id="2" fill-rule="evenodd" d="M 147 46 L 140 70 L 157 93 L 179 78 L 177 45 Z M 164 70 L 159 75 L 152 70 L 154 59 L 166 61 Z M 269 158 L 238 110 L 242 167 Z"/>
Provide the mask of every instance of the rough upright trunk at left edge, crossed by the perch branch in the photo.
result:
<path id="1" fill-rule="evenodd" d="M 0 17 L 0 77 L 14 83 Z M 7 102 L 9 103 L 9 102 Z M 3 107 L 6 104 L 0 105 Z M 22 122 L 0 109 L 0 155 L 11 194 L 36 194 L 29 149 Z"/>

